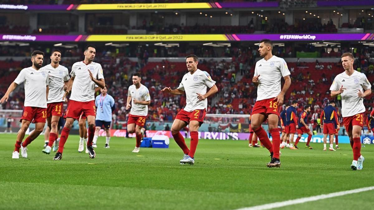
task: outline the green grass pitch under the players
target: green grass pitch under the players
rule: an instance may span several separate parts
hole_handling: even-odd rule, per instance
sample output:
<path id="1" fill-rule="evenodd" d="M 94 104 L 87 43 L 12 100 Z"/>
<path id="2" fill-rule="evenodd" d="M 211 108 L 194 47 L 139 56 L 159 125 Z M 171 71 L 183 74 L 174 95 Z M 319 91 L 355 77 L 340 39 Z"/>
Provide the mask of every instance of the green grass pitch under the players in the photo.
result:
<path id="1" fill-rule="evenodd" d="M 70 135 L 61 161 L 42 153 L 44 136 L 28 146 L 28 158 L 13 160 L 15 135 L 0 135 L 0 209 L 237 209 L 374 185 L 374 146 L 362 147 L 362 171 L 350 170 L 352 150 L 282 149 L 281 168 L 267 168 L 265 148 L 247 141 L 199 141 L 195 164 L 180 165 L 183 152 L 141 148 L 135 139 L 100 137 L 96 158 L 77 152 Z M 187 140 L 189 145 L 189 140 Z M 373 209 L 374 191 L 281 209 Z"/>

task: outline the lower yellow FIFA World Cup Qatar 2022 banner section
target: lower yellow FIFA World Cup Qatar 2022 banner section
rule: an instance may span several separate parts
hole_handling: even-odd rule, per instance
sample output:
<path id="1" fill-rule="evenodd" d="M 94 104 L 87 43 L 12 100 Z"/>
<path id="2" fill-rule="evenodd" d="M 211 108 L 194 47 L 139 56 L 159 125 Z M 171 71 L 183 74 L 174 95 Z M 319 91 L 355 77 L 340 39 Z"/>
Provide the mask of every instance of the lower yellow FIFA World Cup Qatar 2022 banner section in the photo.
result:
<path id="1" fill-rule="evenodd" d="M 225 34 L 89 35 L 86 41 L 227 41 Z"/>

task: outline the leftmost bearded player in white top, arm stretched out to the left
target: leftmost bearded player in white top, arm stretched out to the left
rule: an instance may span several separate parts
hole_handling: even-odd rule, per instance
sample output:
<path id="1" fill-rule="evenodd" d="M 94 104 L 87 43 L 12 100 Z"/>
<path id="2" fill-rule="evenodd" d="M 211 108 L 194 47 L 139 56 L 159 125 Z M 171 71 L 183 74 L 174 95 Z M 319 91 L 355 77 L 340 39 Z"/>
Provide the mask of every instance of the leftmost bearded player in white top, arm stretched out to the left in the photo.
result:
<path id="1" fill-rule="evenodd" d="M 21 155 L 27 158 L 27 145 L 36 139 L 42 133 L 47 117 L 47 97 L 48 97 L 48 74 L 41 70 L 43 64 L 44 53 L 36 50 L 31 53 L 31 62 L 33 65 L 19 72 L 17 78 L 10 84 L 1 104 L 8 101 L 9 94 L 17 87 L 24 83 L 25 86 L 25 103 L 21 117 L 21 129 L 17 133 L 15 149 L 12 158 L 19 158 L 19 148 Z M 30 123 L 35 123 L 35 130 L 22 142 Z"/>

